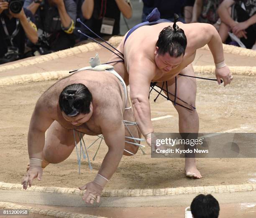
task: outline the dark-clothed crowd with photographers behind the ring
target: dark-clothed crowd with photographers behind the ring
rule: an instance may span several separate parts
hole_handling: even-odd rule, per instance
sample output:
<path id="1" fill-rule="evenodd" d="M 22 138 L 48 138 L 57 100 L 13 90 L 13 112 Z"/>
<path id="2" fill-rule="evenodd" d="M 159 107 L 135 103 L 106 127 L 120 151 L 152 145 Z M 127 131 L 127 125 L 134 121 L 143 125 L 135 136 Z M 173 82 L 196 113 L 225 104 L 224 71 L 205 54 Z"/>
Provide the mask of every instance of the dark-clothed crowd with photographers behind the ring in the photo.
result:
<path id="1" fill-rule="evenodd" d="M 210 23 L 223 43 L 256 50 L 256 0 L 143 0 L 138 23 L 154 8 L 170 21 L 176 13 L 183 23 Z M 119 35 L 121 13 L 130 19 L 132 10 L 130 0 L 0 0 L 0 64 L 97 38 L 82 23 L 105 39 Z"/>

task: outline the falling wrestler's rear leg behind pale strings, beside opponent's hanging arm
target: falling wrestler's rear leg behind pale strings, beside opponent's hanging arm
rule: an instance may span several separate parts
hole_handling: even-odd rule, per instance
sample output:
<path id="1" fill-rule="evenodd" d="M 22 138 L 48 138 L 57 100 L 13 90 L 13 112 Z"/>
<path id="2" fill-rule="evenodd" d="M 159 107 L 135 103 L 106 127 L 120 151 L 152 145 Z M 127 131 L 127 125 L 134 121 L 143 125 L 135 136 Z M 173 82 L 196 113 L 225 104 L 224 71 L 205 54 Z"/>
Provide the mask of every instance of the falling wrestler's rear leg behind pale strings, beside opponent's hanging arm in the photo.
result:
<path id="1" fill-rule="evenodd" d="M 126 121 L 130 121 L 130 122 L 136 122 L 135 118 L 133 116 L 132 109 L 125 110 L 125 112 L 123 114 L 123 119 Z M 125 127 L 125 136 L 126 137 L 135 137 L 135 138 L 139 138 L 139 139 L 141 138 L 141 132 L 138 129 L 138 125 L 128 125 L 127 127 Z M 125 138 L 125 141 L 140 144 L 140 142 L 138 140 L 135 142 L 133 139 Z M 136 154 L 136 152 L 138 151 L 138 146 L 125 142 L 125 150 L 128 150 L 129 152 Z M 127 155 L 127 156 L 132 155 L 125 151 L 123 152 L 123 154 Z"/>

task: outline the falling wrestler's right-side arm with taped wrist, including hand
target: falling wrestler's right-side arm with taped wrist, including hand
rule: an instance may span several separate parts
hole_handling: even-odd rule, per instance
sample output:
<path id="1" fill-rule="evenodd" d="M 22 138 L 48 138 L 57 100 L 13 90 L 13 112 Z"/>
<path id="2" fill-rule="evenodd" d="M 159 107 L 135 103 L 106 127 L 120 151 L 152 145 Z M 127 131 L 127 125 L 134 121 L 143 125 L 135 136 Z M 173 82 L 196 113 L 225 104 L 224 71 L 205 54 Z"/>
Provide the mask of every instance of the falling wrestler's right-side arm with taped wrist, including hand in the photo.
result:
<path id="1" fill-rule="evenodd" d="M 111 114 L 111 110 L 114 111 L 111 108 L 107 114 Z M 86 203 L 93 204 L 96 199 L 97 203 L 100 202 L 102 190 L 116 171 L 123 156 L 123 150 L 125 148 L 125 127 L 121 114 L 122 112 L 120 111 L 120 114 L 118 113 L 116 116 L 115 114 L 110 115 L 108 118 L 102 119 L 102 123 L 100 124 L 105 142 L 108 145 L 108 152 L 94 181 L 79 187 L 80 190 L 86 190 L 83 196 L 83 200 Z"/>

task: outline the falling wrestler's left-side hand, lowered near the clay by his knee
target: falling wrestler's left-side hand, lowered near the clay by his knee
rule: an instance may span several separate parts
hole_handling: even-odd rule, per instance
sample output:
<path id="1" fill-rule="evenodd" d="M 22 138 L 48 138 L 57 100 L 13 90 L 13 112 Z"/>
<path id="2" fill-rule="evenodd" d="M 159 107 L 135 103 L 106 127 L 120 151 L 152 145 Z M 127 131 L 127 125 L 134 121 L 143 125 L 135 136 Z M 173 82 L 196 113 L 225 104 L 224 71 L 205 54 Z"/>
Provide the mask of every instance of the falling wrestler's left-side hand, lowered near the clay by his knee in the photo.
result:
<path id="1" fill-rule="evenodd" d="M 21 185 L 23 185 L 23 189 L 27 189 L 32 186 L 32 181 L 34 178 L 37 177 L 39 181 L 41 181 L 43 175 L 43 169 L 39 166 L 30 166 L 29 170 L 27 171 L 27 175 L 23 177 L 23 181 Z"/>

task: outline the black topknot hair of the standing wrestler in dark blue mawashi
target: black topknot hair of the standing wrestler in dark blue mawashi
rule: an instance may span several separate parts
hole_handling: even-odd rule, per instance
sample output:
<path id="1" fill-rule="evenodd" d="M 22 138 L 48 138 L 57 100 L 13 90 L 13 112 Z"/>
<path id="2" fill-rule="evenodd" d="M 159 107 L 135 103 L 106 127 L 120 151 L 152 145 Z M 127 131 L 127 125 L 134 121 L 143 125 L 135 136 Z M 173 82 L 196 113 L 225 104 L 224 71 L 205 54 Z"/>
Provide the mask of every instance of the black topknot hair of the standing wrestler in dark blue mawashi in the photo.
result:
<path id="1" fill-rule="evenodd" d="M 158 53 L 160 55 L 169 52 L 170 56 L 177 58 L 185 54 L 187 37 L 184 30 L 179 28 L 176 24 L 178 19 L 179 16 L 174 14 L 173 26 L 167 26 L 159 33 L 156 46 L 159 48 Z"/>

